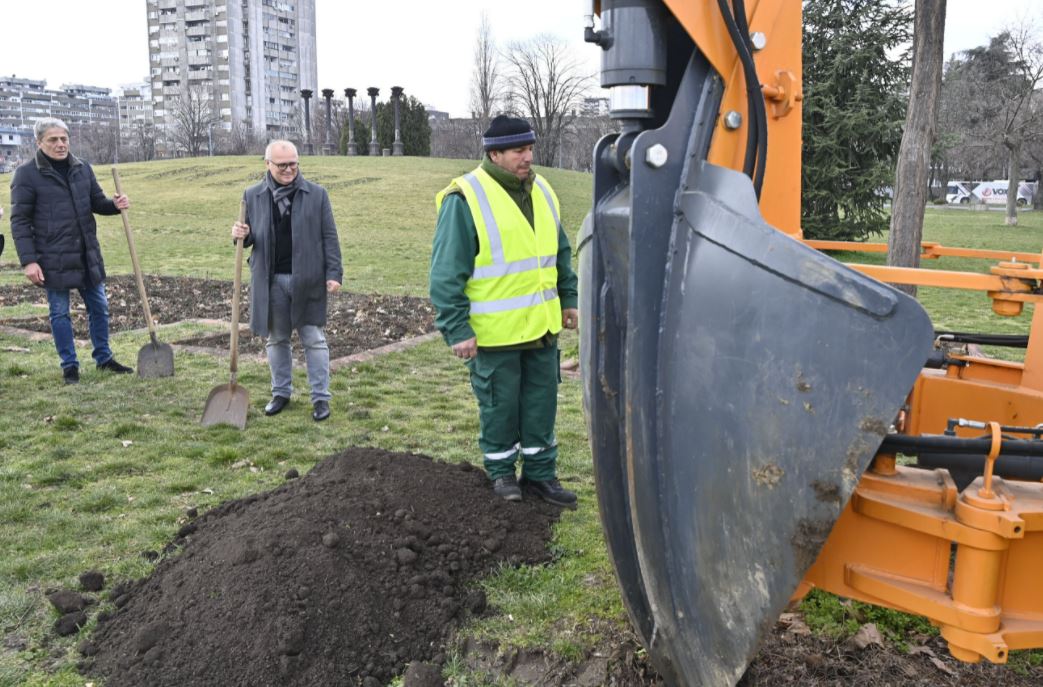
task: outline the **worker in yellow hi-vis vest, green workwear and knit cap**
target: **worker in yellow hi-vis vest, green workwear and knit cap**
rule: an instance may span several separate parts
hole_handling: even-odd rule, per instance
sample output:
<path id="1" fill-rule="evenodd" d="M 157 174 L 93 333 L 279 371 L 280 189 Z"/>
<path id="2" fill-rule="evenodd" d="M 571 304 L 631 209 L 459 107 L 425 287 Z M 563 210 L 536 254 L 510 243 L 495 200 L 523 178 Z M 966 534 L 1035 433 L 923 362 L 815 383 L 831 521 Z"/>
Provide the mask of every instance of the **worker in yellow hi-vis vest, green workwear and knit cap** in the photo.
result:
<path id="1" fill-rule="evenodd" d="M 496 117 L 482 137 L 482 164 L 435 197 L 431 302 L 470 370 L 495 494 L 576 508 L 557 479 L 554 422 L 558 333 L 576 328 L 578 280 L 558 197 L 532 170 L 535 142 L 526 120 Z"/>

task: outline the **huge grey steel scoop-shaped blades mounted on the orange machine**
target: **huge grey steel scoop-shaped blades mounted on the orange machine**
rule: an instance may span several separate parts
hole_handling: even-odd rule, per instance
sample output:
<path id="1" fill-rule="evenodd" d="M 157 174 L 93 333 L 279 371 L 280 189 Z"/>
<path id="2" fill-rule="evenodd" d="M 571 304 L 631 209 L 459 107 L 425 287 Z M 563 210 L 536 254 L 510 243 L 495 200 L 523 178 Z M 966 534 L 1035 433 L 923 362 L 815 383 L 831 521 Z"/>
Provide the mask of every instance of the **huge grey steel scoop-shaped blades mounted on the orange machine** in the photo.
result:
<path id="1" fill-rule="evenodd" d="M 595 152 L 584 400 L 626 607 L 670 685 L 733 685 L 931 346 L 912 298 L 768 225 L 706 162 L 721 81 L 668 65 L 652 128 Z M 647 164 L 646 164 L 647 163 Z"/>

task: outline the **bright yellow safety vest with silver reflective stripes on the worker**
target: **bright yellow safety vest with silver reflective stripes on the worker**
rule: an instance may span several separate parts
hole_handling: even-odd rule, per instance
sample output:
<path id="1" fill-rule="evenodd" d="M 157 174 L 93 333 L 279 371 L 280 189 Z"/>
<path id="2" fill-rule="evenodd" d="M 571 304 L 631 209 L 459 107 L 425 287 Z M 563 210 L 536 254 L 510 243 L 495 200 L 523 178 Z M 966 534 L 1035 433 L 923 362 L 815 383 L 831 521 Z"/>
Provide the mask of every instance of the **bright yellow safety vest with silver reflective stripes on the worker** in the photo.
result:
<path id="1" fill-rule="evenodd" d="M 478 229 L 478 255 L 464 293 L 479 346 L 509 346 L 561 330 L 558 299 L 560 205 L 538 174 L 532 185 L 533 226 L 503 187 L 481 167 L 453 179 L 435 196 L 441 210 L 451 191 L 467 200 Z"/>

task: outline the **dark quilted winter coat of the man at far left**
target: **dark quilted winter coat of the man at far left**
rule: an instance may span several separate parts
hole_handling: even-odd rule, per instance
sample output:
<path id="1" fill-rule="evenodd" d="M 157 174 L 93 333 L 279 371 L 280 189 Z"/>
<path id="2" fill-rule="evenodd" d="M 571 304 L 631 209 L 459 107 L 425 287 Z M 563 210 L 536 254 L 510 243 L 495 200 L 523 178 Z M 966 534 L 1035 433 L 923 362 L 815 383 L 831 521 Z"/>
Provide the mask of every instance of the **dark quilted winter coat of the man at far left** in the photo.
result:
<path id="1" fill-rule="evenodd" d="M 119 215 L 90 165 L 69 155 L 68 181 L 48 157 L 15 170 L 10 182 L 10 235 L 22 267 L 38 263 L 48 289 L 80 289 L 105 279 L 94 214 Z"/>

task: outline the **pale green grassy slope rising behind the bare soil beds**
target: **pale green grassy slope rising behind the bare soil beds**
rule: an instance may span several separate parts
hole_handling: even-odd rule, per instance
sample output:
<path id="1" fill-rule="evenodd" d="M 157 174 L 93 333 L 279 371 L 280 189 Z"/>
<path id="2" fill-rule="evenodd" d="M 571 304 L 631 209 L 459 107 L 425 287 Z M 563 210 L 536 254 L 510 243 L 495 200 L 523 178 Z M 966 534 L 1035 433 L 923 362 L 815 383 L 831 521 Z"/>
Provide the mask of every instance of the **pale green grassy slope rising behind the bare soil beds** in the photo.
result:
<path id="1" fill-rule="evenodd" d="M 345 288 L 427 295 L 435 193 L 471 168 L 474 164 L 463 160 L 306 157 L 305 176 L 330 191 L 344 253 Z M 563 221 L 575 236 L 589 205 L 590 177 L 543 171 L 562 199 Z M 142 270 L 231 279 L 229 229 L 243 189 L 263 173 L 264 164 L 257 157 L 122 165 Z M 97 167 L 95 174 L 102 189 L 113 193 L 111 168 Z M 9 179 L 0 176 L 0 204 L 5 208 Z M 108 271 L 130 272 L 119 218 L 99 218 L 98 228 Z M 9 227 L 4 234 L 9 238 Z M 14 246 L 9 249 L 3 257 L 8 263 L 16 261 Z"/>

